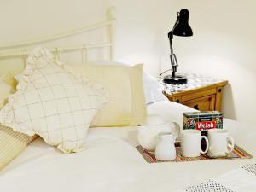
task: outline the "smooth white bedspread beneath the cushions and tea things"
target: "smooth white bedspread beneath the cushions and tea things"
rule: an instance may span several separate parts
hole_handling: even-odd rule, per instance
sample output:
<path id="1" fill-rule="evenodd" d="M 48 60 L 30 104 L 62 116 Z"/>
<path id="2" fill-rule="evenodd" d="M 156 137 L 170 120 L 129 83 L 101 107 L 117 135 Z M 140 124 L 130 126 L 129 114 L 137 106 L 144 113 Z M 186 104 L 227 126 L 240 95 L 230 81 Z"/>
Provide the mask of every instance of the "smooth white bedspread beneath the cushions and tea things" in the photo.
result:
<path id="1" fill-rule="evenodd" d="M 148 113 L 159 113 L 179 123 L 183 112 L 193 110 L 174 102 L 148 106 Z M 253 127 L 228 119 L 224 119 L 224 127 L 242 148 L 256 155 Z M 137 145 L 136 127 L 93 128 L 86 143 L 84 152 L 61 154 L 36 140 L 0 172 L 0 191 L 177 191 L 254 160 L 148 164 L 132 147 Z"/>

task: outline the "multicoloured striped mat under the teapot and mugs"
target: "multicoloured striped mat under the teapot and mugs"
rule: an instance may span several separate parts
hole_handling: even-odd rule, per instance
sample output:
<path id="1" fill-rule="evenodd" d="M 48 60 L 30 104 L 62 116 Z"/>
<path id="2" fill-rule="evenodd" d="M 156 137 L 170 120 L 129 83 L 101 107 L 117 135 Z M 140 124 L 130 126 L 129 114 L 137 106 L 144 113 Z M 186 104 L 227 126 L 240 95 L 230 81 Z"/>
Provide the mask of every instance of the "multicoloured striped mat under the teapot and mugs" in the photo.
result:
<path id="1" fill-rule="evenodd" d="M 160 162 L 185 162 L 185 161 L 196 161 L 196 160 L 234 160 L 234 159 L 251 159 L 253 156 L 251 154 L 248 154 L 247 151 L 240 148 L 239 146 L 235 145 L 235 148 L 231 154 L 229 154 L 226 157 L 219 157 L 219 158 L 211 158 L 207 156 L 207 154 L 201 154 L 199 157 L 183 157 L 181 155 L 181 148 L 180 143 L 175 143 L 177 156 L 175 160 L 170 161 L 163 161 L 163 160 L 156 160 L 154 158 L 153 153 L 149 153 L 147 150 L 143 149 L 141 145 L 138 145 L 136 148 L 140 152 L 140 154 L 143 155 L 143 158 L 148 163 L 160 163 Z"/>

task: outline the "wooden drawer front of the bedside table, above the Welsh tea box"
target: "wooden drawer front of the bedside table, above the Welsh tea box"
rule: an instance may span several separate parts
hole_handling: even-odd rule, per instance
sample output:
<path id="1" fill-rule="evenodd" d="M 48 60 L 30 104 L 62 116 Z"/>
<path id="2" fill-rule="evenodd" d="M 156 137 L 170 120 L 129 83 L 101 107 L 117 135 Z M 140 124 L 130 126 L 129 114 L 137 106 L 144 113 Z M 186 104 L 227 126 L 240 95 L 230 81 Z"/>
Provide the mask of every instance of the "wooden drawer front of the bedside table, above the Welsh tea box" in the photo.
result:
<path id="1" fill-rule="evenodd" d="M 215 95 L 202 96 L 197 99 L 192 99 L 182 102 L 183 105 L 195 108 L 200 111 L 214 111 L 215 110 Z"/>

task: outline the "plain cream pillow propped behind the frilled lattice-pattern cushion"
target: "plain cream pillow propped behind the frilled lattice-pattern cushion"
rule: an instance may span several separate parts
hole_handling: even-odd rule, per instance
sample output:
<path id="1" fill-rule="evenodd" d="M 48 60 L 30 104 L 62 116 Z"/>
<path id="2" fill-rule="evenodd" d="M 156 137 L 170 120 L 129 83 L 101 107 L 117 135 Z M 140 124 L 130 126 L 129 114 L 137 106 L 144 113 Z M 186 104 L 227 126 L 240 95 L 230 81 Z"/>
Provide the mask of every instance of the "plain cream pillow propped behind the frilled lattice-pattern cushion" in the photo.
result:
<path id="1" fill-rule="evenodd" d="M 109 102 L 96 114 L 91 126 L 141 125 L 146 117 L 143 93 L 143 64 L 73 65 L 73 70 L 109 91 Z"/>

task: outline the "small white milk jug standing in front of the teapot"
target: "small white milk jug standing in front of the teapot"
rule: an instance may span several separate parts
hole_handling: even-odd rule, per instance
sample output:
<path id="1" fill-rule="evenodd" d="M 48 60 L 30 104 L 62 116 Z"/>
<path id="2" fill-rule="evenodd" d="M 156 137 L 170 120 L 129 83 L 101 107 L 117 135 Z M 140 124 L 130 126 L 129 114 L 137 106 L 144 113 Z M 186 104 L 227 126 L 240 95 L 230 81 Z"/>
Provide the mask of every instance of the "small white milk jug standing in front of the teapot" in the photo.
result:
<path id="1" fill-rule="evenodd" d="M 161 132 L 158 134 L 158 141 L 155 148 L 156 160 L 175 160 L 176 148 L 172 132 Z"/>

